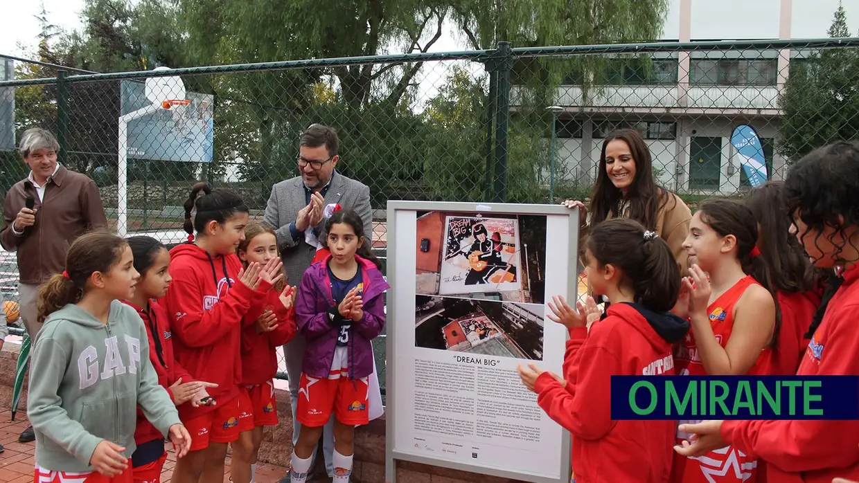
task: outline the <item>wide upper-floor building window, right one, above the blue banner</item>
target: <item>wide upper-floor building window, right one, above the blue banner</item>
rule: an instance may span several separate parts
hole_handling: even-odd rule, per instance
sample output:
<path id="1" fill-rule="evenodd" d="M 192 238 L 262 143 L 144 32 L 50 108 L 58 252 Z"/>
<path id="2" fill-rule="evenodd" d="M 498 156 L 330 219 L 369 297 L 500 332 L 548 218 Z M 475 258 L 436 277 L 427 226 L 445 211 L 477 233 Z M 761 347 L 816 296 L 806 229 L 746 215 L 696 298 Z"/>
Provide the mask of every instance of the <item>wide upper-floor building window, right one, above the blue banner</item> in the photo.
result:
<path id="1" fill-rule="evenodd" d="M 691 59 L 692 84 L 717 86 L 774 86 L 777 59 Z"/>

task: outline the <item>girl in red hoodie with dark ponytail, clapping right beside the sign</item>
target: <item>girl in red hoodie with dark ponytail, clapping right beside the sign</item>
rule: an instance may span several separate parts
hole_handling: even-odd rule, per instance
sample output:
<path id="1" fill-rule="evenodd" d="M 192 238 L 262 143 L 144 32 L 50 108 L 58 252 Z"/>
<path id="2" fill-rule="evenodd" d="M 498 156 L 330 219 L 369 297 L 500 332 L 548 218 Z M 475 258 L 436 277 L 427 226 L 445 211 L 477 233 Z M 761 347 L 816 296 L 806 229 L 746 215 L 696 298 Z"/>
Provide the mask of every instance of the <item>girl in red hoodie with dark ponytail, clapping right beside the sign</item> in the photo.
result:
<path id="1" fill-rule="evenodd" d="M 672 346 L 689 330 L 669 312 L 680 291 L 677 261 L 655 232 L 625 218 L 594 226 L 585 258 L 594 293 L 608 297 L 606 316 L 588 331 L 588 309 L 555 297 L 549 318 L 570 330 L 564 378 L 532 364 L 519 367 L 522 383 L 572 433 L 576 483 L 663 483 L 676 423 L 612 420 L 610 385 L 615 375 L 674 374 Z M 593 299 L 588 305 L 594 309 Z"/>

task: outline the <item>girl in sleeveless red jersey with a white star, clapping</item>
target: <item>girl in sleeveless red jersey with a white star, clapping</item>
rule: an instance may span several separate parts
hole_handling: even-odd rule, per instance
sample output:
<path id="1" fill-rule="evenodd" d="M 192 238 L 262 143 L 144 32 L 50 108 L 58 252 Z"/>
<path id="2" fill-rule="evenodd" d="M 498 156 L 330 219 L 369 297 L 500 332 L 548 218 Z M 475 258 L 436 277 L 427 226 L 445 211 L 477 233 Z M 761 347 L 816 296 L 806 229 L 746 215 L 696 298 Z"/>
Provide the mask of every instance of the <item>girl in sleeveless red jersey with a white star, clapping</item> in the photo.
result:
<path id="1" fill-rule="evenodd" d="M 771 273 L 758 250 L 758 223 L 741 202 L 701 203 L 683 246 L 689 274 L 677 313 L 689 317 L 691 332 L 675 353 L 680 374 L 691 376 L 767 375 L 778 311 Z M 685 313 L 684 313 L 685 312 Z M 681 421 L 681 424 L 688 421 Z M 677 438 L 685 438 L 678 433 Z M 731 447 L 702 459 L 674 458 L 678 483 L 753 483 L 757 462 Z M 739 475 L 739 476 L 738 476 Z"/>

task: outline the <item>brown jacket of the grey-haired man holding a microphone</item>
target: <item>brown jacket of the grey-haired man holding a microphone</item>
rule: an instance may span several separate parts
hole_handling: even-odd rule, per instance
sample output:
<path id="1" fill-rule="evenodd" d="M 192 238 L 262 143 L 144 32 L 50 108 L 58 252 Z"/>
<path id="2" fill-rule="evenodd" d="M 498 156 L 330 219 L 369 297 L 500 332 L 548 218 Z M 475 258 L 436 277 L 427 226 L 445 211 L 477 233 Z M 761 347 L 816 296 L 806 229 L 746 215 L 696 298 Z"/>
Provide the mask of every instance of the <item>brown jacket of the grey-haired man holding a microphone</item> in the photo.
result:
<path id="1" fill-rule="evenodd" d="M 26 206 L 27 196 L 35 200 L 36 222 L 20 236 L 15 235 L 12 224 Z M 0 245 L 18 252 L 21 283 L 40 284 L 64 270 L 66 251 L 75 238 L 103 227 L 107 227 L 107 218 L 94 181 L 61 165 L 57 174 L 48 178 L 43 202 L 29 179 L 9 189 L 3 202 Z"/>

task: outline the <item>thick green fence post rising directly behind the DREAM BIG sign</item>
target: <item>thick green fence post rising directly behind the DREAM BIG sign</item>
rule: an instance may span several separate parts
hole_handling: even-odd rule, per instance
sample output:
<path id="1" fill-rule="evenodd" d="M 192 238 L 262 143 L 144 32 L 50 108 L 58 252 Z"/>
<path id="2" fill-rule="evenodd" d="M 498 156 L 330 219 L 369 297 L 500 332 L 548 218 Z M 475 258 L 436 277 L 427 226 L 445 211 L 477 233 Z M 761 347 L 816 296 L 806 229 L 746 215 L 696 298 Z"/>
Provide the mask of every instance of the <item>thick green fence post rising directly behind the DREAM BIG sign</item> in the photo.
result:
<path id="1" fill-rule="evenodd" d="M 493 201 L 507 201 L 507 131 L 510 119 L 510 70 L 513 55 L 509 42 L 498 42 L 497 96 L 495 104 L 495 180 Z"/>

